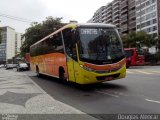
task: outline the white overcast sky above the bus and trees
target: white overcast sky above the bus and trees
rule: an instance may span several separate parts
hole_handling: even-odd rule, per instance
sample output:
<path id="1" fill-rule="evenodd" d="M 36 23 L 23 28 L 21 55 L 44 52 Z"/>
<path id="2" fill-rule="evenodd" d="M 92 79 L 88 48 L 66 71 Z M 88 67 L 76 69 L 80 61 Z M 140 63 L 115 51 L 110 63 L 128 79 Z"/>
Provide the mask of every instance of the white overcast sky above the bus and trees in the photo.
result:
<path id="1" fill-rule="evenodd" d="M 63 17 L 62 22 L 87 22 L 94 12 L 112 0 L 0 0 L 0 26 L 10 26 L 24 33 L 29 22 L 2 17 L 2 14 L 41 22 L 48 16 Z"/>

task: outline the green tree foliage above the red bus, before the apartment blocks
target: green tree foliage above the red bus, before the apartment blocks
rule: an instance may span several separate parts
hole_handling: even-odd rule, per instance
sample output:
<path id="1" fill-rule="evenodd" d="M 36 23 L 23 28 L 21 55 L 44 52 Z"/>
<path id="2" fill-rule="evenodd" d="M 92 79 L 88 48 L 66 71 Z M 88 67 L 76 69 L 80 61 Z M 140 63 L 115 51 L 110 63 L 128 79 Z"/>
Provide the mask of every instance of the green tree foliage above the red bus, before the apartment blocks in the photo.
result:
<path id="1" fill-rule="evenodd" d="M 122 36 L 124 47 L 152 47 L 156 44 L 155 38 L 144 31 L 130 32 L 128 35 Z"/>

